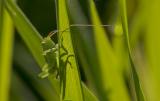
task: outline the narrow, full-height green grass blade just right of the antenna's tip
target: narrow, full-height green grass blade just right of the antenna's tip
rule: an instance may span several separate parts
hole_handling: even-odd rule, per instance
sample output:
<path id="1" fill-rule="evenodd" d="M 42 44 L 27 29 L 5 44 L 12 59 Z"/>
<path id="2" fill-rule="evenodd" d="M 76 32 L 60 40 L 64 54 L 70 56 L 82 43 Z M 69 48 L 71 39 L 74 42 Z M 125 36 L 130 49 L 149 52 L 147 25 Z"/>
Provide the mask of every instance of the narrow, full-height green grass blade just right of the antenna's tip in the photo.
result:
<path id="1" fill-rule="evenodd" d="M 130 64 L 131 64 L 131 70 L 132 70 L 132 76 L 134 80 L 134 86 L 135 86 L 135 91 L 136 91 L 136 97 L 137 101 L 145 101 L 143 91 L 141 88 L 141 84 L 139 81 L 138 73 L 135 68 L 135 64 L 133 62 L 133 57 L 132 57 L 132 52 L 131 52 L 131 46 L 130 46 L 130 40 L 129 40 L 129 34 L 128 34 L 128 21 L 127 21 L 127 10 L 126 10 L 126 0 L 119 0 L 119 7 L 121 11 L 121 19 L 122 19 L 122 27 L 123 27 L 123 32 L 125 34 L 125 41 L 126 45 L 128 48 L 128 53 L 129 53 L 129 59 L 130 59 Z"/>

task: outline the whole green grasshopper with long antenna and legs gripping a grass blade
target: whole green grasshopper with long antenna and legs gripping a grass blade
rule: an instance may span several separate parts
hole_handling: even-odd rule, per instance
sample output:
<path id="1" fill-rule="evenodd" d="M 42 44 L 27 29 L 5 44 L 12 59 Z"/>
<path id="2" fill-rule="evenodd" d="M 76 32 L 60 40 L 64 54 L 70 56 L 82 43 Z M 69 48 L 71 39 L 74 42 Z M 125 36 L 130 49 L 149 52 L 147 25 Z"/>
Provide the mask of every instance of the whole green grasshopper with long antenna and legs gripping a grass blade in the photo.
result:
<path id="1" fill-rule="evenodd" d="M 66 69 L 62 70 L 61 68 L 59 68 L 59 63 L 61 65 L 67 65 L 67 63 L 69 63 L 71 65 L 71 63 L 69 62 L 69 58 L 72 57 L 73 55 L 68 54 L 68 51 L 64 48 L 63 44 L 59 45 L 59 44 L 56 44 L 54 41 L 52 41 L 51 37 L 54 34 L 58 32 L 63 33 L 69 30 L 71 27 L 95 27 L 95 26 L 108 27 L 111 25 L 72 24 L 70 25 L 69 28 L 66 28 L 63 31 L 55 30 L 55 31 L 50 32 L 49 35 L 45 37 L 41 42 L 42 48 L 43 48 L 43 56 L 45 57 L 46 63 L 42 67 L 42 72 L 39 74 L 39 77 L 46 78 L 49 75 L 54 75 L 55 77 L 58 77 L 60 72 L 63 72 L 61 73 L 61 75 L 64 76 Z M 60 56 L 60 58 L 67 55 L 67 59 L 65 62 L 62 61 L 61 59 L 59 60 L 59 48 L 62 48 L 64 50 L 64 53 Z"/>

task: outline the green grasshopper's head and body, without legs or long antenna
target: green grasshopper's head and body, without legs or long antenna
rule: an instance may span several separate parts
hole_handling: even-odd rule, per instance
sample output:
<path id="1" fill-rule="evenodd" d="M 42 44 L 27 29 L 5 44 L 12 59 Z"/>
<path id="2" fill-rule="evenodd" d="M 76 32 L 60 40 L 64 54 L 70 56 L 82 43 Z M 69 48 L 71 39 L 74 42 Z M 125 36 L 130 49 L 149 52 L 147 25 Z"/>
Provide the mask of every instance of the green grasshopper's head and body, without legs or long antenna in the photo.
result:
<path id="1" fill-rule="evenodd" d="M 50 74 L 58 75 L 58 44 L 52 41 L 51 37 L 56 34 L 58 31 L 52 31 L 47 37 L 45 37 L 41 44 L 43 48 L 43 56 L 46 60 L 46 63 L 42 67 L 42 72 L 39 74 L 39 77 L 46 78 Z"/>

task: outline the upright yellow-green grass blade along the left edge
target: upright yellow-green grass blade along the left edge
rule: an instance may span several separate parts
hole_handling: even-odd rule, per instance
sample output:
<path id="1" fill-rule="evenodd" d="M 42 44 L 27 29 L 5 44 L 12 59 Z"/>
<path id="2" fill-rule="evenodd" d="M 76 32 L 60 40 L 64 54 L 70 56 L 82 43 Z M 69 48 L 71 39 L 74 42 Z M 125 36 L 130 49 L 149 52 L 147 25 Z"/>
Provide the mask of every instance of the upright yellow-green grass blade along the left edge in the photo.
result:
<path id="1" fill-rule="evenodd" d="M 3 9 L 2 30 L 0 30 L 0 101 L 8 101 L 10 89 L 10 75 L 12 65 L 12 46 L 14 28 L 12 20 L 6 10 Z"/>

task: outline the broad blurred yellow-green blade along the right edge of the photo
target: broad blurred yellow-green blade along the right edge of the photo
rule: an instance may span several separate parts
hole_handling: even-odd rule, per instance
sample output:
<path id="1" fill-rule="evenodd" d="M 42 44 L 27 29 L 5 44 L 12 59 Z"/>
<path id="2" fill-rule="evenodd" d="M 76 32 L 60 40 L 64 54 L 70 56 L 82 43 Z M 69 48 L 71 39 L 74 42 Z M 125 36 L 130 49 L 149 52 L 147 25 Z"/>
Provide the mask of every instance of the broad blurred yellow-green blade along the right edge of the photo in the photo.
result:
<path id="1" fill-rule="evenodd" d="M 147 60 L 147 71 L 149 75 L 147 90 L 148 90 L 148 101 L 158 101 L 160 99 L 160 1 L 144 1 L 146 3 L 146 25 L 145 25 L 145 52 Z M 148 6 L 150 6 L 148 8 Z"/>

